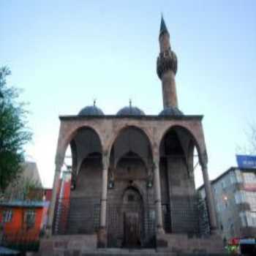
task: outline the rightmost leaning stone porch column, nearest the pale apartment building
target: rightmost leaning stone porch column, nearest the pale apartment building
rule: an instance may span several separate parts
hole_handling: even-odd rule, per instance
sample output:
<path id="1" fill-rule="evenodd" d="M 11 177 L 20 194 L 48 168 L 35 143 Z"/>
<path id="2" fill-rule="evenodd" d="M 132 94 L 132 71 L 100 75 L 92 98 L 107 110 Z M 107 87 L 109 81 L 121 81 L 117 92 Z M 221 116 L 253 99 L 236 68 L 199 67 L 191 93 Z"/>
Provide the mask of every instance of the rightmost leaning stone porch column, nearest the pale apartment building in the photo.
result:
<path id="1" fill-rule="evenodd" d="M 214 210 L 214 197 L 212 195 L 211 183 L 208 177 L 208 168 L 207 162 L 201 163 L 202 171 L 203 171 L 203 183 L 206 191 L 206 205 L 208 208 L 209 222 L 210 222 L 210 230 L 211 233 L 216 233 L 217 230 L 217 219 Z"/>

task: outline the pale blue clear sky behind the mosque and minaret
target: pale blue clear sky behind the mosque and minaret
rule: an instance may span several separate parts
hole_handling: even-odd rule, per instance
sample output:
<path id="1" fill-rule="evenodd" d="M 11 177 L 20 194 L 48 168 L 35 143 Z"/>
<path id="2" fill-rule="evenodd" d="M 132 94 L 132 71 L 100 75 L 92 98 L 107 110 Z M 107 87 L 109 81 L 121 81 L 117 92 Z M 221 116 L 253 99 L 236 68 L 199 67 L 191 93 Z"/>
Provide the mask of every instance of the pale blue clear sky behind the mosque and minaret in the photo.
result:
<path id="1" fill-rule="evenodd" d="M 179 108 L 202 114 L 208 172 L 236 166 L 256 124 L 256 1 L 0 0 L 0 66 L 29 102 L 26 158 L 51 187 L 59 115 L 86 105 L 115 114 L 124 105 L 162 110 L 156 73 L 161 12 L 178 56 Z M 195 171 L 197 185 L 202 174 Z"/>

